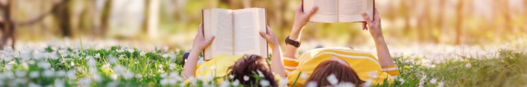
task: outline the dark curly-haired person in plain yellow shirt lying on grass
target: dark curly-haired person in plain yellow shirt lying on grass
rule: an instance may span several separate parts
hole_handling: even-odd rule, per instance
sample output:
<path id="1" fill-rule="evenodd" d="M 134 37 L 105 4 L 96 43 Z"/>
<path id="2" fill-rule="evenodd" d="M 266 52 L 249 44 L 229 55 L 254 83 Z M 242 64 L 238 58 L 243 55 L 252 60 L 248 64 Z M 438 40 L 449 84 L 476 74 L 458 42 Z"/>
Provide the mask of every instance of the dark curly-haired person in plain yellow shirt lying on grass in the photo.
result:
<path id="1" fill-rule="evenodd" d="M 200 29 L 194 38 L 192 50 L 183 66 L 181 75 L 185 80 L 201 77 L 204 78 L 205 82 L 215 80 L 220 83 L 226 79 L 231 80 L 231 82 L 239 82 L 245 86 L 278 86 L 277 82 L 282 77 L 285 78 L 285 69 L 277 37 L 270 27 L 267 28 L 267 33 L 260 33 L 260 35 L 267 40 L 272 50 L 271 64 L 268 63 L 267 58 L 260 55 L 246 54 L 244 56 L 220 55 L 197 65 L 196 62 L 201 50 L 209 46 L 214 39 L 214 36 L 207 38 L 203 36 L 202 24 L 200 24 Z"/>

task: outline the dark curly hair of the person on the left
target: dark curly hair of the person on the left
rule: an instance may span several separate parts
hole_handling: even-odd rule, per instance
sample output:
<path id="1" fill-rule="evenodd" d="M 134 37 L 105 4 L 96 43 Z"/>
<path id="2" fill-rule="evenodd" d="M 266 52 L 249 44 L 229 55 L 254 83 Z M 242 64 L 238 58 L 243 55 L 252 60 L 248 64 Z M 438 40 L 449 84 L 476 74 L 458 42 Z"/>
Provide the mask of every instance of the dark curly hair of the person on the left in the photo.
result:
<path id="1" fill-rule="evenodd" d="M 264 75 L 264 80 L 269 82 L 270 86 L 278 86 L 277 82 L 274 82 L 274 75 L 270 70 L 270 65 L 267 63 L 266 58 L 258 55 L 244 55 L 244 58 L 240 58 L 236 63 L 229 67 L 229 74 L 233 75 L 234 80 L 239 80 L 240 84 L 259 86 L 256 78 L 253 77 L 253 73 L 261 71 Z M 249 80 L 245 81 L 244 76 L 249 77 Z"/>

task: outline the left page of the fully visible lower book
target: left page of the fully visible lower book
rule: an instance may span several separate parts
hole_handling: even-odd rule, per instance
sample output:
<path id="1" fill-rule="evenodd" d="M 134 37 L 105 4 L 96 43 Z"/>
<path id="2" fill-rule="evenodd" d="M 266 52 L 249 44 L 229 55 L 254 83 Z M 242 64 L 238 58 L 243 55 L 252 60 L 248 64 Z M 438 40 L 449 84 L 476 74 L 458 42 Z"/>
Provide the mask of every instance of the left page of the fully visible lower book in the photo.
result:
<path id="1" fill-rule="evenodd" d="M 204 10 L 204 37 L 215 35 L 211 45 L 205 48 L 205 60 L 220 54 L 233 54 L 232 10 Z"/>

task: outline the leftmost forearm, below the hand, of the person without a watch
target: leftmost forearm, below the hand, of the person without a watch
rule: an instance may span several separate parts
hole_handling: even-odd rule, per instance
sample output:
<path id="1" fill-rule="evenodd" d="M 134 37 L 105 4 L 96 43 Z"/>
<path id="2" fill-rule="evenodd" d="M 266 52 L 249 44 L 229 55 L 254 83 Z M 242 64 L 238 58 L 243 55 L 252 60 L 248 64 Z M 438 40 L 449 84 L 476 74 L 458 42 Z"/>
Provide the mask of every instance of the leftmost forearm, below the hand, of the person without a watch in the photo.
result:
<path id="1" fill-rule="evenodd" d="M 183 71 L 181 72 L 181 75 L 183 75 L 185 80 L 189 77 L 194 77 L 196 74 L 196 63 L 198 62 L 199 56 L 200 50 L 191 50 L 189 57 L 183 66 Z"/>

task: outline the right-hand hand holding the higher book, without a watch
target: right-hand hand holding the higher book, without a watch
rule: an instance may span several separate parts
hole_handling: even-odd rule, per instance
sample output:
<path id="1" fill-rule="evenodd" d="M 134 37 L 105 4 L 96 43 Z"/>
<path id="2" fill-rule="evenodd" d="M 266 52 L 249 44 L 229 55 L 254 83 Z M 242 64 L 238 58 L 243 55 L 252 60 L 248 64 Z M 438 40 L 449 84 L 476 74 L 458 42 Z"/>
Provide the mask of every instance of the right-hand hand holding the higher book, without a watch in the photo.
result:
<path id="1" fill-rule="evenodd" d="M 366 13 L 362 13 L 362 18 L 366 21 L 363 22 L 362 29 L 370 31 L 371 36 L 374 38 L 382 37 L 381 16 L 379 15 L 379 11 L 377 11 L 377 7 L 374 10 L 373 20 Z"/>

